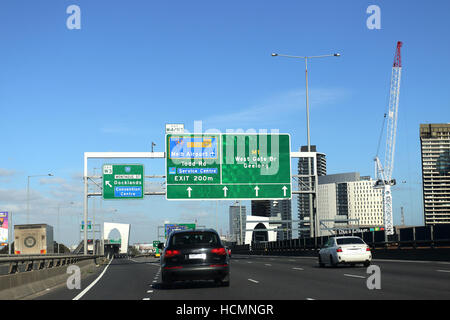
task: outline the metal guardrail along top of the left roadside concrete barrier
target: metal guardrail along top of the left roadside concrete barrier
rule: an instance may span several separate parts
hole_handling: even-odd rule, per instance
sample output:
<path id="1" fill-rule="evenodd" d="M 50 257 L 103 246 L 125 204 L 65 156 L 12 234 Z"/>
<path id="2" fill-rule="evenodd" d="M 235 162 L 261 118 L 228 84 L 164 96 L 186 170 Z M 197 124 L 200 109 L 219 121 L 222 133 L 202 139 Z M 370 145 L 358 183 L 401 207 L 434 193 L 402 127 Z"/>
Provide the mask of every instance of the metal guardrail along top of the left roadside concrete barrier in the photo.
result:
<path id="1" fill-rule="evenodd" d="M 97 259 L 100 255 L 6 255 L 0 256 L 0 274 L 14 274 L 75 264 L 82 260 Z"/>

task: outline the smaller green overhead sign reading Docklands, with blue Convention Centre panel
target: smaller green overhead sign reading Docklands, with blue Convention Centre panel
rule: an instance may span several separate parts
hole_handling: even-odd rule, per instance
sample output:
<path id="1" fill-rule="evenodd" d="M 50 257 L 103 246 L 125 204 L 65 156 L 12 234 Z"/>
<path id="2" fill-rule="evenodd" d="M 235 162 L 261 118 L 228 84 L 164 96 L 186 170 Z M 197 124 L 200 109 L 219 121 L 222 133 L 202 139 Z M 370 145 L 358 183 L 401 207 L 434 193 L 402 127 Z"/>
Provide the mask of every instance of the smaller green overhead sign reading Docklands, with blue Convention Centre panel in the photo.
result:
<path id="1" fill-rule="evenodd" d="M 144 165 L 103 165 L 103 199 L 143 199 Z"/>

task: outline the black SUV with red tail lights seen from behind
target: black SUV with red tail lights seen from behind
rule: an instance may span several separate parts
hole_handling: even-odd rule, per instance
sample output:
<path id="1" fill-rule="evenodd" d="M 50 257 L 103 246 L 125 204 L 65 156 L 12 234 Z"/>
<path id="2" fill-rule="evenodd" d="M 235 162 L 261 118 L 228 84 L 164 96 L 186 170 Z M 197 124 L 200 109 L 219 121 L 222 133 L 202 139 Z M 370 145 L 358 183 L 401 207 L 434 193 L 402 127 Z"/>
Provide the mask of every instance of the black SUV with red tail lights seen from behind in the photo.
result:
<path id="1" fill-rule="evenodd" d="M 172 231 L 161 255 L 164 285 L 179 280 L 214 280 L 230 285 L 227 250 L 215 230 Z"/>

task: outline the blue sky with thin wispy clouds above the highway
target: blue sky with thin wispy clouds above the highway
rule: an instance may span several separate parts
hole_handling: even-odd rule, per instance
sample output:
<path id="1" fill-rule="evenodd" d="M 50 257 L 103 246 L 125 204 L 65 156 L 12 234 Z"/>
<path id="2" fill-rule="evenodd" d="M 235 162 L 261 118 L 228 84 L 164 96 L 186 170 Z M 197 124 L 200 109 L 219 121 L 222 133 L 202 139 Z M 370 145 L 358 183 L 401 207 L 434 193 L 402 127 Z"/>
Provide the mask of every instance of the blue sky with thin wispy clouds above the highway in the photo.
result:
<path id="1" fill-rule="evenodd" d="M 71 5 L 79 29 L 68 27 Z M 380 8 L 379 29 L 368 28 L 371 5 Z M 0 211 L 26 222 L 29 179 L 30 222 L 77 243 L 84 152 L 150 151 L 152 142 L 164 151 L 166 123 L 191 132 L 196 121 L 205 131 L 278 130 L 298 150 L 306 144 L 304 61 L 273 52 L 340 53 L 308 63 L 311 143 L 327 155 L 329 174 L 373 177 L 402 41 L 394 223 L 403 207 L 407 225 L 422 225 L 419 125 L 450 122 L 449 9 L 446 0 L 2 0 Z M 92 160 L 89 174 L 124 161 Z M 164 159 L 127 162 L 164 174 Z M 147 183 L 160 190 L 163 180 Z M 197 220 L 226 234 L 232 204 L 94 199 L 96 223 L 130 223 L 130 243 L 156 240 L 165 221 Z"/>

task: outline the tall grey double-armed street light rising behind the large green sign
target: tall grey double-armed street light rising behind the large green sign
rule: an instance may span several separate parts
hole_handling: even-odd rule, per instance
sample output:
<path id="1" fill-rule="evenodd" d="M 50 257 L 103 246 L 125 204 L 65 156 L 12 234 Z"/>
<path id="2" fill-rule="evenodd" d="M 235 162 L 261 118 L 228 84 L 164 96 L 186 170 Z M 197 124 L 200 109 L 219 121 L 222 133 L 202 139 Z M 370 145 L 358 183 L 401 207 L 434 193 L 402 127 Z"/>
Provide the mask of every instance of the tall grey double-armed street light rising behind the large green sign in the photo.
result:
<path id="1" fill-rule="evenodd" d="M 311 137 L 310 137 L 310 130 L 309 130 L 309 97 L 308 97 L 308 59 L 313 58 L 325 58 L 325 57 L 340 57 L 340 53 L 333 53 L 333 54 L 325 54 L 325 55 L 319 55 L 319 56 L 292 56 L 287 54 L 279 54 L 279 53 L 272 53 L 272 57 L 286 57 L 286 58 L 297 58 L 297 59 L 305 59 L 305 80 L 306 80 L 306 134 L 307 134 L 307 140 L 308 140 L 308 152 L 311 152 Z M 308 157 L 308 184 L 310 189 L 312 190 L 312 181 L 311 177 L 313 174 L 311 173 L 311 158 Z M 317 180 L 317 177 L 314 177 L 315 180 Z M 317 187 L 317 181 L 315 181 L 315 186 Z M 313 217 L 313 195 L 312 193 L 309 193 L 309 212 L 310 212 L 310 219 L 314 219 L 313 226 L 314 226 L 314 238 L 316 237 L 316 217 Z"/>

